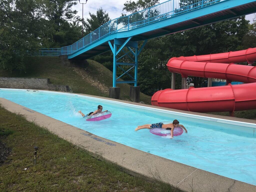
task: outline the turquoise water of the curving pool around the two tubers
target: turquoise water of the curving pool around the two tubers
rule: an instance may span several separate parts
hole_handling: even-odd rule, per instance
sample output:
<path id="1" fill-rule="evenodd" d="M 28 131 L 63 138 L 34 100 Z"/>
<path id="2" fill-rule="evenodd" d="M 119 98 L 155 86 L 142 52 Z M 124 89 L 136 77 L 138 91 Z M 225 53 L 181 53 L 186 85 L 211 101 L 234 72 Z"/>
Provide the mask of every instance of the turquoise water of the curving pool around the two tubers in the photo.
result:
<path id="1" fill-rule="evenodd" d="M 254 124 L 220 123 L 214 118 L 42 91 L 0 89 L 0 97 L 138 150 L 256 185 Z M 89 122 L 77 112 L 94 111 L 99 104 L 112 112 L 110 119 Z M 187 128 L 187 134 L 170 139 L 153 135 L 147 129 L 134 131 L 137 125 L 174 119 Z"/>

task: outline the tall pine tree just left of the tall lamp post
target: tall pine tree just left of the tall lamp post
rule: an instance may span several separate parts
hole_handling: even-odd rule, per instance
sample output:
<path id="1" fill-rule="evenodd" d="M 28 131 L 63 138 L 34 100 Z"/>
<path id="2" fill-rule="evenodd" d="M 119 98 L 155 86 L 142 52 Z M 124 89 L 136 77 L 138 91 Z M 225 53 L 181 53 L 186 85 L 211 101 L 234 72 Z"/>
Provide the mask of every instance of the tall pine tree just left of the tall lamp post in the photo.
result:
<path id="1" fill-rule="evenodd" d="M 73 44 L 81 38 L 81 18 L 75 16 L 72 6 L 75 0 L 42 0 L 44 12 L 44 30 L 41 37 L 43 47 L 63 47 Z"/>

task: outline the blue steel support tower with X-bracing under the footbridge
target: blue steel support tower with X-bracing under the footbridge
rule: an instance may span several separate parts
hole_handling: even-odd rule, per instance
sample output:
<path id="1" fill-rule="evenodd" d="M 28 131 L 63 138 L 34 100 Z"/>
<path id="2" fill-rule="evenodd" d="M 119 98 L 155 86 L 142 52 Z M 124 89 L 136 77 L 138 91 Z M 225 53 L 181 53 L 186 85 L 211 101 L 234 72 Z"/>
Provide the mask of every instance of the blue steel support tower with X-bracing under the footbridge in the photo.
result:
<path id="1" fill-rule="evenodd" d="M 113 53 L 113 87 L 116 87 L 116 83 L 134 83 L 134 86 L 137 86 L 137 73 L 138 73 L 138 55 L 141 53 L 143 47 L 146 45 L 147 40 L 145 40 L 138 49 L 138 42 L 130 41 L 132 37 L 127 38 L 126 40 L 123 39 L 114 39 L 114 44 L 112 46 L 111 42 L 108 41 L 108 44 L 110 46 L 110 49 Z M 127 48 L 129 51 L 124 51 L 124 48 Z M 124 55 L 121 57 L 118 57 L 118 54 L 123 52 Z M 129 55 L 129 53 L 132 53 L 133 57 Z M 133 63 L 124 63 L 124 62 L 118 62 L 125 56 L 129 57 Z M 128 70 L 123 69 L 120 65 L 126 65 L 131 66 Z M 124 73 L 121 74 L 118 78 L 116 78 L 116 69 L 120 68 Z M 134 76 L 132 76 L 129 71 L 134 69 Z M 117 81 L 121 77 L 123 77 L 125 74 L 127 74 L 131 81 Z"/>

